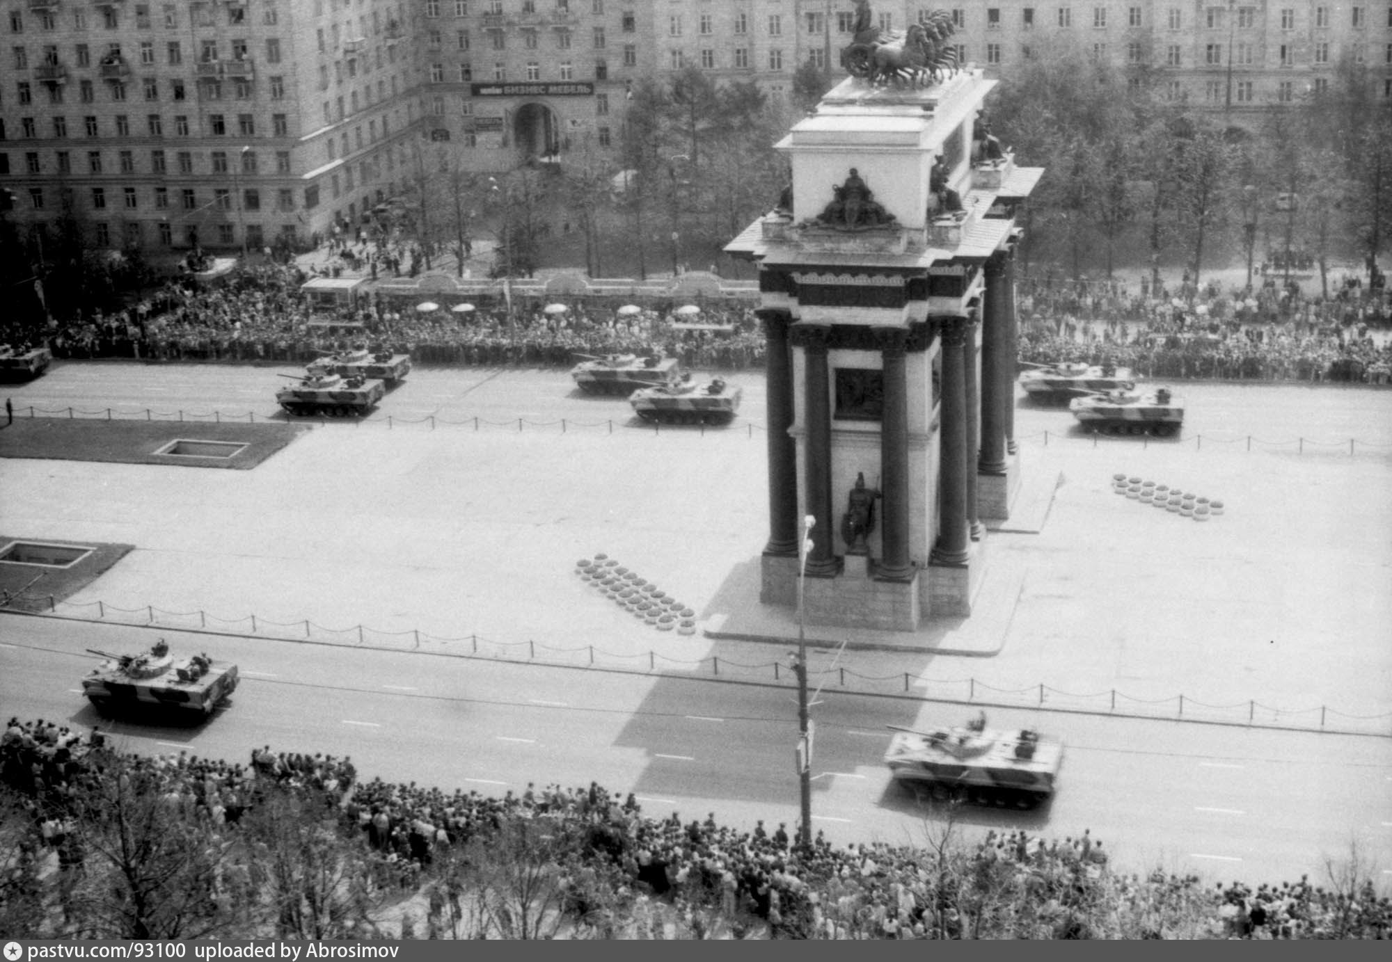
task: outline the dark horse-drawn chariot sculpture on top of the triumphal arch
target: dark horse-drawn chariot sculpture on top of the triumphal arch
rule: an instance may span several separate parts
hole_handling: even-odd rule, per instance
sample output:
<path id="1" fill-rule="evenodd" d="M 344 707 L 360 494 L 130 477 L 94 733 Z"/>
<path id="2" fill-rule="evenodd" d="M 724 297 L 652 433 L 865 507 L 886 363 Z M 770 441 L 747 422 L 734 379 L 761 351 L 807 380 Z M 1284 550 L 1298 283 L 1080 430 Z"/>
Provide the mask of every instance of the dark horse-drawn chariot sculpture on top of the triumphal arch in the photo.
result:
<path id="1" fill-rule="evenodd" d="M 874 25 L 870 0 L 856 0 L 851 46 L 841 51 L 841 67 L 851 76 L 876 86 L 928 86 L 951 76 L 956 68 L 952 15 L 934 10 L 906 31 L 884 31 Z"/>

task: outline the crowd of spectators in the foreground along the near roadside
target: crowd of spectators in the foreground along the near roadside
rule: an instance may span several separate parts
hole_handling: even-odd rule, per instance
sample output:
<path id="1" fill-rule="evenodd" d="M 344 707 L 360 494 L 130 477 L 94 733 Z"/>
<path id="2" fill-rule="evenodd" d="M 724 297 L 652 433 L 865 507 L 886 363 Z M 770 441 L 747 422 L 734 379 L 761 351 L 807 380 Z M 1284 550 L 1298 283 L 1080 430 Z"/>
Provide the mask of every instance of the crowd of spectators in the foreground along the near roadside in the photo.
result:
<path id="1" fill-rule="evenodd" d="M 1340 890 L 1302 877 L 1256 890 L 1240 883 L 1204 890 L 1193 876 L 1115 874 L 1101 841 L 1089 831 L 1059 842 L 1023 830 L 991 830 L 949 866 L 935 849 L 885 842 L 838 847 L 821 833 L 802 849 L 782 823 L 770 831 L 763 822 L 736 830 L 720 824 L 714 813 L 689 823 L 677 813 L 651 819 L 632 794 L 611 794 L 594 783 L 543 790 L 529 784 L 522 794 L 486 797 L 359 780 L 348 758 L 270 747 L 252 751 L 249 765 L 187 752 L 124 758 L 135 767 L 121 769 L 122 778 L 132 772 L 149 776 L 161 798 L 223 831 L 235 831 L 271 783 L 323 799 L 324 810 L 341 813 L 345 838 L 359 838 L 386 877 L 404 890 L 429 890 L 432 916 L 445 904 L 441 890 L 451 902 L 458 899 L 457 890 L 433 876 L 451 849 L 487 841 L 508 823 L 551 819 L 585 829 L 586 858 L 618 872 L 626 890 L 621 897 L 646 892 L 671 901 L 688 918 L 753 916 L 774 936 L 954 938 L 979 936 L 983 924 L 1006 924 L 1022 936 L 1087 938 L 1125 934 L 1098 930 L 1098 919 L 1130 913 L 1141 936 L 1164 937 L 1179 934 L 1165 926 L 1175 924 L 1180 902 L 1193 909 L 1194 927 L 1186 934 L 1200 937 L 1386 937 L 1392 923 L 1392 905 L 1371 883 Z M 100 783 L 113 759 L 96 728 L 84 734 L 53 722 L 10 720 L 0 735 L 0 776 L 33 819 L 24 859 L 32 863 L 52 849 L 64 870 L 81 872 L 86 855 L 72 819 L 90 808 L 77 798 Z M 575 877 L 583 872 L 574 865 L 565 870 Z M 1104 894 L 1115 902 L 1109 911 L 1090 911 Z M 568 908 L 579 915 L 586 898 L 575 888 Z M 1165 906 L 1168 916 L 1158 912 Z"/>

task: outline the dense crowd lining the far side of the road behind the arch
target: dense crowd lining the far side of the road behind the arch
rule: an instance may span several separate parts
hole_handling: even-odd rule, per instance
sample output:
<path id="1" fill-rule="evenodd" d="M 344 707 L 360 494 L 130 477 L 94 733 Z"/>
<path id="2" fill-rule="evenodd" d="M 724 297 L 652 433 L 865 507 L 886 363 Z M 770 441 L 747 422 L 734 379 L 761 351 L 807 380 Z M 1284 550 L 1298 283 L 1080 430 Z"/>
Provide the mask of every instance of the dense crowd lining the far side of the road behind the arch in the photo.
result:
<path id="1" fill-rule="evenodd" d="M 171 281 L 118 314 L 70 318 L 36 336 L 17 323 L 0 342 L 47 342 L 71 359 L 309 361 L 369 336 L 374 346 L 438 366 L 565 367 L 575 354 L 663 352 L 688 367 L 760 368 L 764 338 L 752 307 L 707 304 L 709 329 L 672 325 L 675 304 L 622 316 L 618 304 L 480 306 L 468 314 L 379 302 L 323 324 L 299 291 L 305 274 L 260 266 L 200 288 Z M 1331 299 L 1270 286 L 1244 296 L 1211 284 L 1133 292 L 1116 282 L 1026 281 L 1019 291 L 1019 361 L 1087 361 L 1151 378 L 1392 381 L 1392 306 L 1385 291 L 1342 286 Z M 1153 296 L 1155 295 L 1155 296 Z M 521 300 L 521 299 L 519 299 Z M 319 323 L 312 324 L 317 320 Z"/>

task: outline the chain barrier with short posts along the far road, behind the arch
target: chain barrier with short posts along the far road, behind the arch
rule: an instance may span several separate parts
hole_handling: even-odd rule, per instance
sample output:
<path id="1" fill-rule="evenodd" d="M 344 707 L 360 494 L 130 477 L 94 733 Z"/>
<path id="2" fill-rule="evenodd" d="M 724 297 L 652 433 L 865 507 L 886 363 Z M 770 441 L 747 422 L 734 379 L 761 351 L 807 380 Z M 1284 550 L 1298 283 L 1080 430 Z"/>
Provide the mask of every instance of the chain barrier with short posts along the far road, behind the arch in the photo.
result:
<path id="1" fill-rule="evenodd" d="M 149 407 L 121 410 L 117 407 L 99 407 L 99 409 L 84 409 L 84 407 L 38 407 L 29 405 L 26 407 L 17 407 L 15 416 L 26 416 L 31 420 L 39 417 L 52 418 L 68 418 L 68 420 L 135 420 L 135 421 L 175 421 L 181 424 L 284 424 L 285 427 L 292 427 L 302 424 L 305 427 L 327 427 L 329 424 L 338 423 L 340 418 L 334 417 L 285 417 L 283 414 L 266 416 L 262 414 L 260 420 L 256 418 L 256 411 L 223 411 L 223 410 L 209 410 L 209 411 L 156 411 Z M 425 417 L 401 417 L 397 414 L 387 414 L 383 417 L 367 417 L 367 418 L 352 418 L 352 424 L 356 427 L 383 427 L 388 431 L 401 428 L 419 428 L 423 427 L 429 431 L 436 431 L 438 428 L 462 428 L 472 430 L 475 432 L 483 431 L 483 428 L 500 428 L 507 431 L 522 432 L 528 428 L 560 428 L 561 434 L 568 434 L 571 430 L 597 430 L 604 434 L 614 434 L 614 430 L 621 431 L 646 431 L 649 434 L 661 434 L 665 431 L 682 431 L 692 432 L 699 431 L 700 437 L 706 437 L 707 431 L 711 434 L 732 437 L 743 434 L 746 438 L 753 438 L 754 434 L 764 434 L 767 427 L 763 424 L 756 424 L 753 421 L 746 421 L 743 430 L 734 427 L 709 427 L 700 425 L 672 425 L 672 424 L 657 424 L 646 421 L 615 421 L 614 418 L 606 418 L 601 421 L 582 421 L 575 418 L 555 418 L 550 421 L 539 421 L 526 417 L 512 417 L 503 421 L 496 421 L 486 417 L 466 416 L 464 418 L 448 418 L 437 414 L 427 414 Z M 1164 438 L 1157 439 L 1150 435 L 1140 435 L 1133 438 L 1130 435 L 1104 435 L 1104 434 L 1084 434 L 1076 435 L 1070 432 L 1059 431 L 1037 431 L 1034 434 L 1018 435 L 1016 441 L 1030 441 L 1040 442 L 1041 446 L 1048 448 L 1051 445 L 1087 445 L 1097 448 L 1100 443 L 1121 443 L 1128 448 L 1134 448 L 1136 442 L 1140 441 L 1141 449 L 1147 449 L 1150 445 L 1162 445 L 1169 449 L 1183 449 L 1193 443 L 1194 450 L 1203 450 L 1207 443 L 1210 448 L 1214 445 L 1243 445 L 1244 450 L 1295 450 L 1297 455 L 1304 453 L 1347 453 L 1353 457 L 1359 453 L 1373 453 L 1379 455 L 1392 450 L 1392 442 L 1378 443 L 1374 441 L 1363 441 L 1359 438 L 1347 438 L 1346 441 L 1324 441 L 1320 438 L 1288 438 L 1285 441 L 1275 441 L 1270 438 L 1258 438 L 1251 434 L 1233 434 L 1233 435 L 1215 435 L 1215 434 L 1196 434 L 1187 438 Z"/>

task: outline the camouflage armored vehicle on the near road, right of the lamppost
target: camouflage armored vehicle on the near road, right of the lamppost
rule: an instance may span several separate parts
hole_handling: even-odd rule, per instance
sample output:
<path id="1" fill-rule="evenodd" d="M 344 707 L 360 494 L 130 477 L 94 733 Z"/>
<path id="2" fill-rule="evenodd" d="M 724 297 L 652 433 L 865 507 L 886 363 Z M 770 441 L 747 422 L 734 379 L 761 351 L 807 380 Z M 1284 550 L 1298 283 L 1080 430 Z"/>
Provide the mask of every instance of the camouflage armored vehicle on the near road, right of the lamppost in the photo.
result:
<path id="1" fill-rule="evenodd" d="M 1054 797 L 1063 745 L 1037 731 L 987 728 L 984 715 L 960 728 L 892 730 L 884 756 L 889 774 L 938 801 L 1025 809 Z"/>

